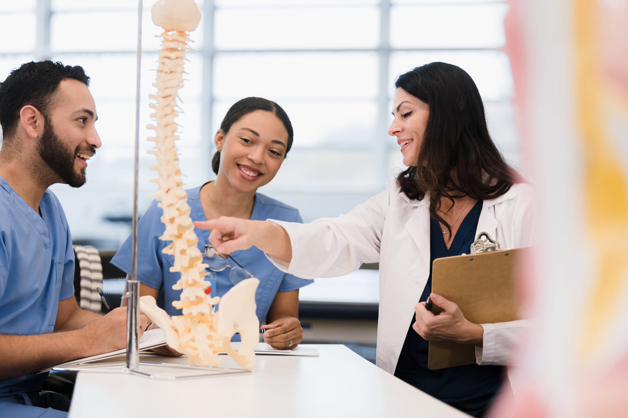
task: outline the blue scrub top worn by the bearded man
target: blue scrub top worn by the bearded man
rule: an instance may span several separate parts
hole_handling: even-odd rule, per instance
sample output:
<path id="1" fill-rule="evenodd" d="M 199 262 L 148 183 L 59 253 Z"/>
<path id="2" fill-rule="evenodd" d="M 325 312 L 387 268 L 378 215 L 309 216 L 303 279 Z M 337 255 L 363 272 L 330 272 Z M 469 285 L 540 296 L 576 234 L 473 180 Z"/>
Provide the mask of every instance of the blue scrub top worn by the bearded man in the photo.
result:
<path id="1" fill-rule="evenodd" d="M 0 177 L 0 334 L 53 332 L 59 301 L 74 295 L 72 238 L 53 192 L 44 193 L 40 212 Z M 47 375 L 0 380 L 0 401 L 41 390 Z"/>

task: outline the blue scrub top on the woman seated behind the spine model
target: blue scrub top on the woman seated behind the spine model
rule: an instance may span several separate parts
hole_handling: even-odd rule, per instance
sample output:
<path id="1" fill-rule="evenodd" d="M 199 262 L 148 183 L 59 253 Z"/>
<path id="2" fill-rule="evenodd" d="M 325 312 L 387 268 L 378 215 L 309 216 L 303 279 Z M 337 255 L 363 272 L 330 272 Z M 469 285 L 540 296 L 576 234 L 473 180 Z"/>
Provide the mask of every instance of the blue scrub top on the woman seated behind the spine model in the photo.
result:
<path id="1" fill-rule="evenodd" d="M 190 217 L 193 221 L 205 221 L 205 212 L 200 204 L 200 188 L 187 190 L 188 205 L 192 212 Z M 173 290 L 172 286 L 181 278 L 180 273 L 171 273 L 174 256 L 161 252 L 170 242 L 161 241 L 159 237 L 165 231 L 165 226 L 161 222 L 163 211 L 157 206 L 157 201 L 153 201 L 138 222 L 138 279 L 141 283 L 160 289 L 157 298 L 157 305 L 166 310 L 168 315 L 181 315 L 181 310 L 175 309 L 172 302 L 179 300 L 181 290 Z M 303 222 L 299 211 L 279 201 L 255 194 L 255 204 L 251 213 L 254 221 L 266 221 L 266 219 L 278 219 L 289 222 Z M 198 249 L 203 251 L 205 244 L 209 243 L 209 232 L 207 229 L 194 228 L 198 236 Z M 309 285 L 313 280 L 303 280 L 292 274 L 283 273 L 268 261 L 264 253 L 256 247 L 251 247 L 243 251 L 236 251 L 231 256 L 236 259 L 249 273 L 259 279 L 259 286 L 255 294 L 257 304 L 257 318 L 263 321 L 273 303 L 275 294 L 278 291 L 297 290 Z M 116 256 L 111 260 L 127 274 L 131 273 L 131 236 L 126 239 L 118 250 Z M 209 271 L 209 269 L 208 269 Z M 212 283 L 215 295 L 222 297 L 234 285 L 229 280 L 230 269 L 216 273 L 217 283 Z M 206 279 L 207 280 L 207 279 Z M 237 336 L 236 336 L 237 337 Z"/>

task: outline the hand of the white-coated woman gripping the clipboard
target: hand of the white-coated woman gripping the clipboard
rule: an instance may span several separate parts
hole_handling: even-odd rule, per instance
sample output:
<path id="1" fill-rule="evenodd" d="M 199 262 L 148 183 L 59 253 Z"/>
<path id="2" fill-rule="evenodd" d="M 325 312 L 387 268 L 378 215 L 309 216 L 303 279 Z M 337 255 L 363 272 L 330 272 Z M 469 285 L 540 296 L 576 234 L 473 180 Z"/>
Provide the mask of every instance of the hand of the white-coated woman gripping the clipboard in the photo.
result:
<path id="1" fill-rule="evenodd" d="M 425 308 L 425 302 L 417 303 L 414 306 L 416 322 L 412 328 L 418 335 L 426 341 L 454 341 L 482 347 L 482 325 L 468 321 L 458 305 L 443 296 L 430 293 L 430 300 L 443 311 L 434 315 Z"/>

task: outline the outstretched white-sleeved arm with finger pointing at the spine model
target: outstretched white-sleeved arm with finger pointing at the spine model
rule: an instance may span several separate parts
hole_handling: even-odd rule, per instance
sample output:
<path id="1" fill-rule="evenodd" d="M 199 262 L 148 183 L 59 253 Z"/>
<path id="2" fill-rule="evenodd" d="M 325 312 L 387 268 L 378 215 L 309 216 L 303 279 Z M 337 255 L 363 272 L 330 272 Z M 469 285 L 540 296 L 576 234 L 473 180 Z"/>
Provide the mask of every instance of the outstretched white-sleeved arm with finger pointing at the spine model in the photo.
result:
<path id="1" fill-rule="evenodd" d="M 394 181 L 338 217 L 306 224 L 220 217 L 196 226 L 212 229 L 209 241 L 220 253 L 256 246 L 278 269 L 302 279 L 343 276 L 362 263 L 379 261 L 387 212 L 399 194 Z"/>

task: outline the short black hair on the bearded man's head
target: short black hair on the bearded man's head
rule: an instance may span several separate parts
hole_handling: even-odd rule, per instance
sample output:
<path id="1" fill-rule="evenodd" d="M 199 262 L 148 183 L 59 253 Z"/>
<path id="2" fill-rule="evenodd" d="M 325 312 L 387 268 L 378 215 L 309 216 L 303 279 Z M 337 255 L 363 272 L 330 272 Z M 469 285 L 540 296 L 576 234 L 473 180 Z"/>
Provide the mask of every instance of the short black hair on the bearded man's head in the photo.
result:
<path id="1" fill-rule="evenodd" d="M 44 116 L 48 115 L 53 95 L 61 81 L 71 78 L 89 86 L 89 77 L 81 66 L 60 62 L 39 61 L 15 68 L 0 83 L 0 125 L 4 140 L 13 137 L 19 120 L 19 111 L 31 105 Z"/>

